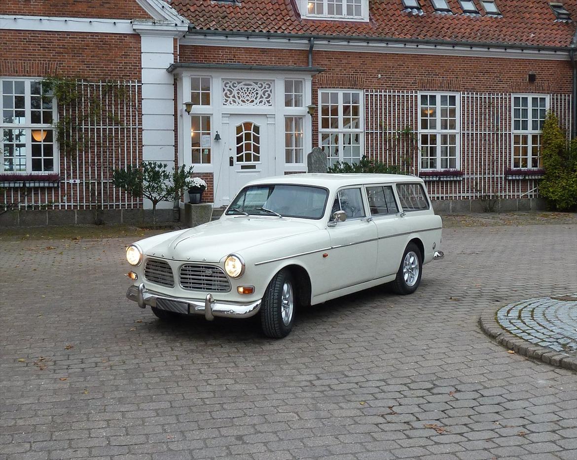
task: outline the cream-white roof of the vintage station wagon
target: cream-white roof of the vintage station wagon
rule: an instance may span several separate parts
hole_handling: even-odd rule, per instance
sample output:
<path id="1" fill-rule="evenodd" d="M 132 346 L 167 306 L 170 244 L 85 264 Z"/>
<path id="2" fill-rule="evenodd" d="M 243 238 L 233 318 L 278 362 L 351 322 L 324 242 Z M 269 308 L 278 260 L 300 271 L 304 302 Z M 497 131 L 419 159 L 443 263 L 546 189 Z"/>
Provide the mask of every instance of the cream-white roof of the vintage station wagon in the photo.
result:
<path id="1" fill-rule="evenodd" d="M 298 184 L 338 188 L 349 185 L 391 183 L 391 182 L 419 182 L 423 180 L 417 176 L 402 174 L 288 174 L 273 176 L 265 179 L 252 180 L 247 185 L 256 184 Z"/>

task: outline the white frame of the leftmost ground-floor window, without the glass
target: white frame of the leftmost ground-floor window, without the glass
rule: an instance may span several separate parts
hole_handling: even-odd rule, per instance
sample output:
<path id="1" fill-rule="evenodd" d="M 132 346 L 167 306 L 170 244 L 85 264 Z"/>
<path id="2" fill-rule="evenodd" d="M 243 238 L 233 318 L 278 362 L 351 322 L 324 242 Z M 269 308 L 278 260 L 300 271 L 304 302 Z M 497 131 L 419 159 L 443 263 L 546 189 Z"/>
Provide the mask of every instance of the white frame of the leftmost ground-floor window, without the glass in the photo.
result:
<path id="1" fill-rule="evenodd" d="M 42 81 L 42 77 L 23 78 L 23 77 L 0 77 L 0 150 L 4 151 L 4 135 L 3 130 L 23 130 L 26 131 L 26 171 L 4 171 L 4 155 L 0 156 L 0 174 L 58 174 L 60 172 L 60 155 L 58 149 L 57 133 L 54 129 L 54 123 L 58 122 L 58 108 L 56 99 L 52 100 L 52 120 L 53 123 L 32 123 L 31 115 L 31 83 L 34 81 Z M 25 123 L 5 123 L 4 122 L 4 101 L 3 101 L 3 82 L 4 81 L 23 81 L 24 82 L 24 118 Z M 53 170 L 52 171 L 32 171 L 32 131 L 43 130 L 53 131 Z"/>

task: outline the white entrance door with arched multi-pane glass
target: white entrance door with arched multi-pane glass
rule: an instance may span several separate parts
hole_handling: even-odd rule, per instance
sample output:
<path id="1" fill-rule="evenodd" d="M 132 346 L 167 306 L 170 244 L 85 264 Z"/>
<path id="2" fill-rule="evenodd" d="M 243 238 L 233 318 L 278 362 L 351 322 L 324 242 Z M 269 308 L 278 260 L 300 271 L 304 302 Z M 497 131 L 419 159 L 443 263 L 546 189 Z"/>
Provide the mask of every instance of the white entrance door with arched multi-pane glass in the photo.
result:
<path id="1" fill-rule="evenodd" d="M 233 199 L 250 180 L 275 174 L 274 125 L 267 115 L 230 115 L 228 126 L 228 193 Z"/>

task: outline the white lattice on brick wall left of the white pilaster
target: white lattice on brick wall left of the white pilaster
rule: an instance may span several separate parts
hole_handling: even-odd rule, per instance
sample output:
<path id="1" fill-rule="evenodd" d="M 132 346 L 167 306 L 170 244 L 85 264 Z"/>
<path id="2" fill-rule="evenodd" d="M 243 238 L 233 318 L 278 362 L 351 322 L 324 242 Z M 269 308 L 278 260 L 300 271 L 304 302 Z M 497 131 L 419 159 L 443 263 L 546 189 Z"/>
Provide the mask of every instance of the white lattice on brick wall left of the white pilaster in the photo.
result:
<path id="1" fill-rule="evenodd" d="M 78 96 L 58 107 L 59 119 L 69 120 L 73 146 L 59 152 L 59 187 L 6 188 L 3 208 L 140 208 L 140 199 L 112 184 L 114 168 L 140 163 L 140 89 L 138 81 L 78 81 Z"/>

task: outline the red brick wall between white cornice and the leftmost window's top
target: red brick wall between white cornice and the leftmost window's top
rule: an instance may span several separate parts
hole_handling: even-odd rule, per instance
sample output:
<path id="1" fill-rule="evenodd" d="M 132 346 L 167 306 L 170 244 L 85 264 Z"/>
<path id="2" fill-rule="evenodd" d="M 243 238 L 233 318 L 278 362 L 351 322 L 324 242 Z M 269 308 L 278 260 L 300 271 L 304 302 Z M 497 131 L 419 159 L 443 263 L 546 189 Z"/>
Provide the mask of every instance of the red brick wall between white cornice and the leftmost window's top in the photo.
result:
<path id="1" fill-rule="evenodd" d="M 140 80 L 140 36 L 0 31 L 0 75 Z"/>

